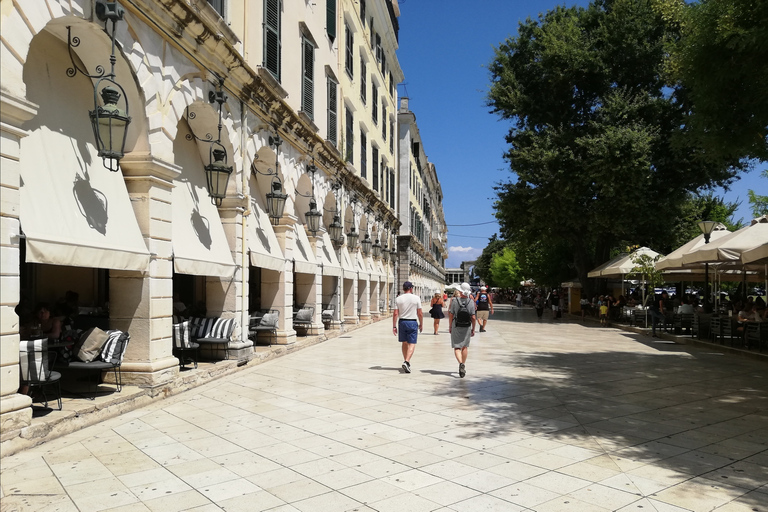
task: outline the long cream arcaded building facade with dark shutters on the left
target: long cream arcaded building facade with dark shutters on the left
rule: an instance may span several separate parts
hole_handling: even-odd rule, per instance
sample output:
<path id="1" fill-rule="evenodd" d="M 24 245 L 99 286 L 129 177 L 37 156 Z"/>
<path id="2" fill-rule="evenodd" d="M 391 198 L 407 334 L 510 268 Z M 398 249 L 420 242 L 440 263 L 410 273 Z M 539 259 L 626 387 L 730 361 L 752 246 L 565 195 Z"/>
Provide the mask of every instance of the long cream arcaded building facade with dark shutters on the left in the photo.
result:
<path id="1" fill-rule="evenodd" d="M 31 421 L 17 348 L 41 302 L 129 332 L 123 378 L 158 395 L 175 314 L 236 319 L 240 360 L 255 311 L 281 344 L 300 306 L 310 334 L 389 314 L 397 0 L 1 4 L 3 432 Z"/>

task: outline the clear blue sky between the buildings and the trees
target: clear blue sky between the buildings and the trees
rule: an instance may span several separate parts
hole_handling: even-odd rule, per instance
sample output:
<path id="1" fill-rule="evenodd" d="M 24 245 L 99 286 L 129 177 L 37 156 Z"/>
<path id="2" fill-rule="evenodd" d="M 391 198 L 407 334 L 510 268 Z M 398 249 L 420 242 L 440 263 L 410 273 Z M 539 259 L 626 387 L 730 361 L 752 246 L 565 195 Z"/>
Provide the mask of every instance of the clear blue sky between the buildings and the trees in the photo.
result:
<path id="1" fill-rule="evenodd" d="M 399 0 L 400 49 L 405 81 L 398 94 L 409 98 L 424 150 L 437 168 L 448 224 L 447 268 L 474 260 L 498 233 L 493 186 L 513 178 L 503 154 L 510 123 L 489 113 L 487 65 L 493 48 L 514 37 L 519 22 L 556 5 L 556 0 Z M 741 201 L 736 220 L 751 218 L 747 190 L 761 191 L 760 169 L 716 195 Z M 762 190 L 765 194 L 766 191 Z"/>

